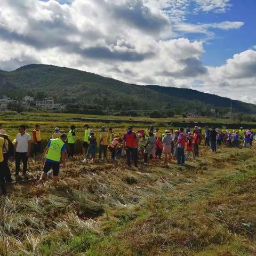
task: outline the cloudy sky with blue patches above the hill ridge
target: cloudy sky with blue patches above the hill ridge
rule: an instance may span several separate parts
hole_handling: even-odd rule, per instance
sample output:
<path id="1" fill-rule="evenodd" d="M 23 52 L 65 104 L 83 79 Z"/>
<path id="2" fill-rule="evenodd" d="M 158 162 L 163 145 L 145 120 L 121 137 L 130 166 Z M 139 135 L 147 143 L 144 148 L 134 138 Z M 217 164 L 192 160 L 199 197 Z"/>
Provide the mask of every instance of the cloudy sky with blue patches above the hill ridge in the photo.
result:
<path id="1" fill-rule="evenodd" d="M 31 63 L 256 103 L 255 0 L 0 0 L 0 69 Z"/>

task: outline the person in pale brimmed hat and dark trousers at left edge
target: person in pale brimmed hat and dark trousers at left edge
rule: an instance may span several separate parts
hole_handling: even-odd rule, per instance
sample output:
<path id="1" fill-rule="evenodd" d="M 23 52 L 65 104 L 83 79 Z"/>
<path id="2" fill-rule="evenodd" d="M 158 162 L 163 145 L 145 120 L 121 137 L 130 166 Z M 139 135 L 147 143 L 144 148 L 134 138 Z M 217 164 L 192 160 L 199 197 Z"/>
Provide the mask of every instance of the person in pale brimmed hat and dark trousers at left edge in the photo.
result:
<path id="1" fill-rule="evenodd" d="M 3 145 L 3 157 L 4 157 L 4 177 L 7 182 L 12 182 L 12 175 L 9 168 L 9 158 L 14 156 L 14 146 L 11 140 L 9 139 L 9 135 L 5 130 L 0 130 L 0 137 L 4 139 Z"/>

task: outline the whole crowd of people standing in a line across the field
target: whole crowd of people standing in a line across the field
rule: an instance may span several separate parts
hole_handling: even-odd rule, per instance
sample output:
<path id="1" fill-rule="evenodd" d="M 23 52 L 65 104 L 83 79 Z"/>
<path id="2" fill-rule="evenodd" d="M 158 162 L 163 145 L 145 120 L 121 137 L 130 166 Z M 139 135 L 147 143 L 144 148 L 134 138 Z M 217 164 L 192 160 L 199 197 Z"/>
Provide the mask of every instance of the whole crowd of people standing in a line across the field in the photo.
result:
<path id="1" fill-rule="evenodd" d="M 83 163 L 88 161 L 94 163 L 107 161 L 108 151 L 110 161 L 116 161 L 117 157 L 126 156 L 127 165 L 138 167 L 138 159 L 143 159 L 144 165 L 149 165 L 151 160 L 163 161 L 169 164 L 172 159 L 176 159 L 178 165 L 183 165 L 188 161 L 190 155 L 193 160 L 199 157 L 199 145 L 204 140 L 205 147 L 211 147 L 213 152 L 217 147 L 226 145 L 227 147 L 252 147 L 255 139 L 254 132 L 244 130 L 239 131 L 221 130 L 219 128 L 205 127 L 204 133 L 201 127 L 179 130 L 165 130 L 160 133 L 158 128 L 150 126 L 148 129 L 133 131 L 129 126 L 125 134 L 115 134 L 113 129 L 106 130 L 101 127 L 95 132 L 90 126 L 85 124 L 83 136 Z M 33 136 L 26 132 L 26 126 L 19 126 L 19 133 L 11 141 L 7 132 L 0 124 L 0 186 L 2 193 L 6 194 L 6 182 L 12 182 L 12 175 L 9 168 L 9 160 L 15 159 L 15 176 L 19 176 L 20 165 L 23 163 L 22 175 L 26 175 L 28 158 L 30 156 L 40 156 L 42 150 L 42 134 L 40 126 L 37 124 L 32 132 Z M 49 142 L 43 151 L 43 171 L 37 183 L 42 183 L 48 175 L 53 176 L 53 185 L 57 186 L 59 181 L 60 163 L 66 166 L 67 158 L 74 157 L 76 153 L 76 127 L 70 126 L 69 132 L 61 133 L 58 127 L 55 128 Z M 186 155 L 185 155 L 186 150 Z M 97 157 L 98 152 L 98 157 Z"/>

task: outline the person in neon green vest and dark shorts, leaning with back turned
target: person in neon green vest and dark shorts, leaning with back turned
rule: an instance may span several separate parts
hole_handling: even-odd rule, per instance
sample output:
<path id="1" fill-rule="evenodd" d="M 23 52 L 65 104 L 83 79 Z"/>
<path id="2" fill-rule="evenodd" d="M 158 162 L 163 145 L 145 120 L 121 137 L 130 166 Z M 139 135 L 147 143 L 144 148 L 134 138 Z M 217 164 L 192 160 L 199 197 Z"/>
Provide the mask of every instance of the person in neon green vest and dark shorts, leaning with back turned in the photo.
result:
<path id="1" fill-rule="evenodd" d="M 44 170 L 41 173 L 41 177 L 37 184 L 42 183 L 47 177 L 47 173 L 53 170 L 53 185 L 57 187 L 59 181 L 59 171 L 60 171 L 60 158 L 62 160 L 63 168 L 66 167 L 66 145 L 67 135 L 65 133 L 61 134 L 58 139 L 51 139 L 43 154 Z"/>

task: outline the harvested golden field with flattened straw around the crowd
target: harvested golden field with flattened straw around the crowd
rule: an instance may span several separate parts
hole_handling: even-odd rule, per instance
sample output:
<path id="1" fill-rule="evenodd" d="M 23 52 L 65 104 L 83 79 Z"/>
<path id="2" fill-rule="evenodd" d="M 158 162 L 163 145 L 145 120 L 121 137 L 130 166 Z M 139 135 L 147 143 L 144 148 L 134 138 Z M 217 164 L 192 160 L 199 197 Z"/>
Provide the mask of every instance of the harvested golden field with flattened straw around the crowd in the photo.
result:
<path id="1" fill-rule="evenodd" d="M 30 131 L 40 123 L 45 140 L 55 126 L 70 126 L 64 115 L 9 117 L 2 120 L 13 138 L 25 121 Z M 82 139 L 82 123 L 75 125 Z M 52 180 L 35 186 L 43 165 L 30 159 L 28 179 L 0 199 L 0 255 L 256 255 L 255 148 L 200 150 L 184 166 L 145 167 L 140 159 L 138 169 L 123 158 L 83 165 L 78 155 L 61 169 L 56 189 Z"/>

